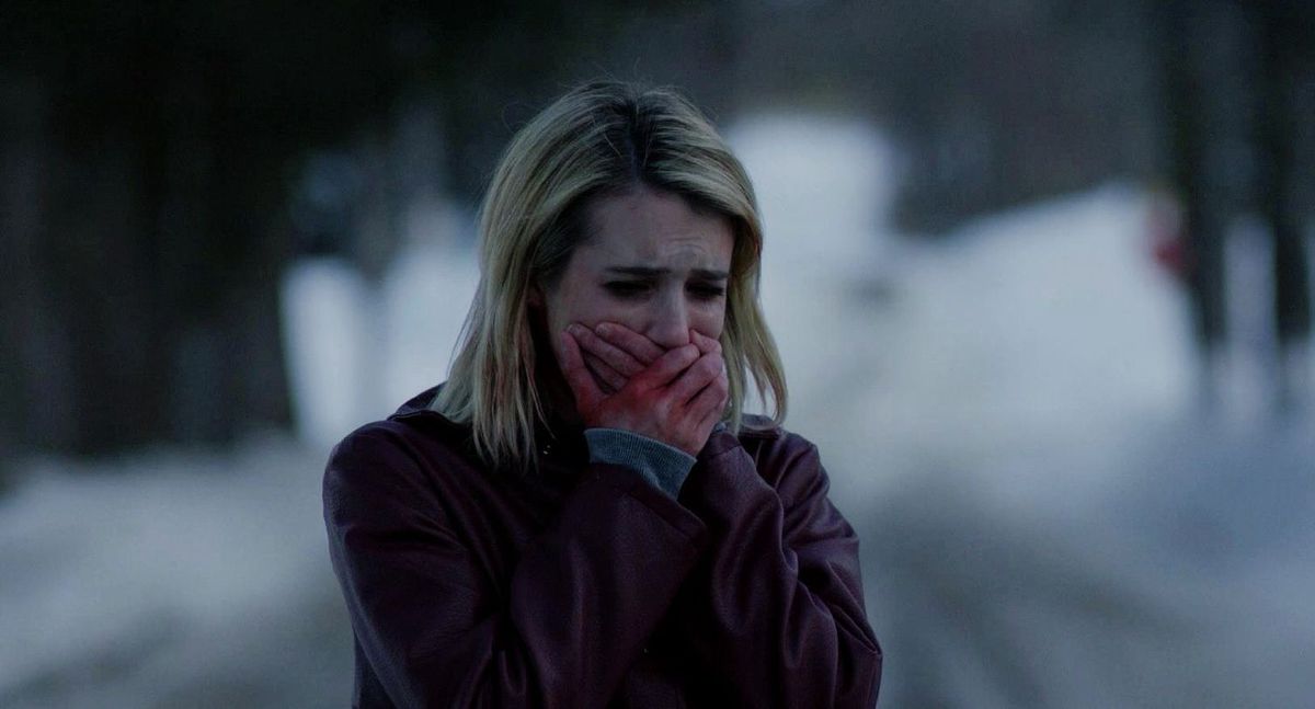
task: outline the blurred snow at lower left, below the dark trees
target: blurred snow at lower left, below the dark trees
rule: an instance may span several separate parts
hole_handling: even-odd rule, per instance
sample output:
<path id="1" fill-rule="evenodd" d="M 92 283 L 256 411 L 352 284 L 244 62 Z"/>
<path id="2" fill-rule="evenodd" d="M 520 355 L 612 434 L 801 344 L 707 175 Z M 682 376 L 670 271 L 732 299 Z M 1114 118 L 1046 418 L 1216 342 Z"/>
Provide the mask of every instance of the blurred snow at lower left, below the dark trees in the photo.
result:
<path id="1" fill-rule="evenodd" d="M 283 438 L 33 462 L 0 500 L 0 705 L 339 704 L 322 464 Z"/>

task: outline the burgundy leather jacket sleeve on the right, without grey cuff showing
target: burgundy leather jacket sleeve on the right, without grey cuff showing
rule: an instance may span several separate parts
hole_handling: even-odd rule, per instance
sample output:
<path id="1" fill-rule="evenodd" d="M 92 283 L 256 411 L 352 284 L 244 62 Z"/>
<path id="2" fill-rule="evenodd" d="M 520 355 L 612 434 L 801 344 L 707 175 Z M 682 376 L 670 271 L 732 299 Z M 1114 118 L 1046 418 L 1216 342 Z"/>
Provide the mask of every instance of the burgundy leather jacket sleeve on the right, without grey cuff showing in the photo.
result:
<path id="1" fill-rule="evenodd" d="M 730 434 L 714 441 L 680 497 L 709 531 L 681 593 L 698 662 L 736 705 L 873 706 L 881 648 L 859 539 L 827 500 L 817 447 L 790 434 L 760 463 Z M 776 488 L 759 464 L 780 467 Z"/>

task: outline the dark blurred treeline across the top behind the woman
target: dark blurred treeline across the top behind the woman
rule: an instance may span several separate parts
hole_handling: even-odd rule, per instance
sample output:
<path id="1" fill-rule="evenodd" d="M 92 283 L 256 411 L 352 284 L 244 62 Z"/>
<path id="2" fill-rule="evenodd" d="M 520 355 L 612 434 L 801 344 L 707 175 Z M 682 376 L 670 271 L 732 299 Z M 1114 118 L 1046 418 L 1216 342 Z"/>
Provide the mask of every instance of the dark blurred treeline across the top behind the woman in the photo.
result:
<path id="1" fill-rule="evenodd" d="M 1206 5 L 1223 9 L 1202 18 Z M 1223 237 L 1210 234 L 1261 212 L 1283 225 L 1283 331 L 1304 337 L 1291 275 L 1306 268 L 1310 217 L 1304 8 L 5 3 L 0 454 L 285 426 L 283 267 L 317 249 L 377 274 L 392 251 L 387 230 L 370 243 L 348 224 L 337 238 L 299 233 L 289 204 L 308 157 L 389 141 L 398 107 L 427 107 L 439 182 L 473 204 L 514 128 L 600 75 L 682 86 L 722 118 L 781 99 L 871 116 L 902 155 L 897 214 L 913 232 L 1110 178 L 1160 179 L 1189 205 L 1202 322 L 1222 317 L 1211 249 Z M 1237 51 L 1212 51 L 1220 36 Z M 1206 99 L 1224 108 L 1197 110 Z M 1273 168 L 1235 179 L 1237 154 Z M 1294 197 L 1265 199 L 1279 193 Z"/>

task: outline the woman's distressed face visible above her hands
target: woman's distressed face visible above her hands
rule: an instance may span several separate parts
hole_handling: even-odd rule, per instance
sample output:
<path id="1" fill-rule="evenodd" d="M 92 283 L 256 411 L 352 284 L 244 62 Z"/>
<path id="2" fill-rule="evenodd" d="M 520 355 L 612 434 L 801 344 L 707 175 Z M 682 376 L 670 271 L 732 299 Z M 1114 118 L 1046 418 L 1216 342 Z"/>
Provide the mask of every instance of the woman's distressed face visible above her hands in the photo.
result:
<path id="1" fill-rule="evenodd" d="M 562 279 L 531 296 L 550 337 L 573 322 L 618 322 L 663 349 L 688 345 L 690 329 L 721 337 L 734 246 L 727 218 L 639 188 L 588 205 L 585 224 Z"/>

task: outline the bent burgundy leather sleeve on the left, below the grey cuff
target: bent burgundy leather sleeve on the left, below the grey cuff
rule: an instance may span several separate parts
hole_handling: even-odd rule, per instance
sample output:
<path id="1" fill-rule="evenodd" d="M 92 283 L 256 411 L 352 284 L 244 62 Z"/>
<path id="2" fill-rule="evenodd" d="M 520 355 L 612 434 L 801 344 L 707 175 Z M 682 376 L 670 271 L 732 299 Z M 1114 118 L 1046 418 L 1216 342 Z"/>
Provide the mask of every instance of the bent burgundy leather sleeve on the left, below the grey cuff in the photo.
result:
<path id="1" fill-rule="evenodd" d="M 589 464 L 497 593 L 400 446 L 352 434 L 323 480 L 334 571 L 392 701 L 602 706 L 693 568 L 704 525 L 633 471 Z"/>

